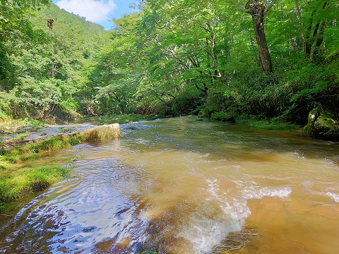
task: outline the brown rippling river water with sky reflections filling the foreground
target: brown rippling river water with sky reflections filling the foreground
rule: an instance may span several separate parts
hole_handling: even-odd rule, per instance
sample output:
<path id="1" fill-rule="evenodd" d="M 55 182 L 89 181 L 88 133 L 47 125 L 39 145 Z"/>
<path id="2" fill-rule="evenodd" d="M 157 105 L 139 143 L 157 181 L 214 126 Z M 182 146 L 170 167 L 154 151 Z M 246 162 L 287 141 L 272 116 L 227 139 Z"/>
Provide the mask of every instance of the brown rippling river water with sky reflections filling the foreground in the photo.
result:
<path id="1" fill-rule="evenodd" d="M 0 217 L 0 253 L 338 253 L 337 143 L 178 118 L 62 150 L 73 177 Z"/>

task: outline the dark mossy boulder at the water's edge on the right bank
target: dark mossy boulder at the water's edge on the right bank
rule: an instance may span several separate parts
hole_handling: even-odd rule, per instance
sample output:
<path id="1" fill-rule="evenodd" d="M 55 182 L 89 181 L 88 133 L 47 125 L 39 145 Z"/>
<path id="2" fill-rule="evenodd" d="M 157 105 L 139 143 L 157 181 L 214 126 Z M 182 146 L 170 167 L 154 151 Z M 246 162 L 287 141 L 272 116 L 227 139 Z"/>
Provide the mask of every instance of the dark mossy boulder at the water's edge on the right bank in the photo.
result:
<path id="1" fill-rule="evenodd" d="M 319 107 L 309 112 L 308 133 L 313 138 L 339 140 L 339 120 L 331 111 Z"/>

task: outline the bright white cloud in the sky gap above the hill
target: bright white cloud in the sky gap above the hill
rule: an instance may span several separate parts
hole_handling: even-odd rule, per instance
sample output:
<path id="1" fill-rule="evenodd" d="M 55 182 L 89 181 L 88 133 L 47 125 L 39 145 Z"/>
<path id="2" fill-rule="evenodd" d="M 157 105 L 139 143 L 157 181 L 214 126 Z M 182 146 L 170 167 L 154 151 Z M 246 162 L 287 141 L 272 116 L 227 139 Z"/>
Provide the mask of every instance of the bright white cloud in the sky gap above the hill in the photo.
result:
<path id="1" fill-rule="evenodd" d="M 117 8 L 112 0 L 61 0 L 57 6 L 95 23 L 109 19 L 109 13 Z"/>

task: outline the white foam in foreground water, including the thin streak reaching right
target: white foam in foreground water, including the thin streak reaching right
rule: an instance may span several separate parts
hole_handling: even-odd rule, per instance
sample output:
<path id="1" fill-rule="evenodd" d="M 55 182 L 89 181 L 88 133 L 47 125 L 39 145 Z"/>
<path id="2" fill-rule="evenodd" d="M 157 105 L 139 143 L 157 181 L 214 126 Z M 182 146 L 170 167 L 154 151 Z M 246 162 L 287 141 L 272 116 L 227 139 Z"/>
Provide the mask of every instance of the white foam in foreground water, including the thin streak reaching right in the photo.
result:
<path id="1" fill-rule="evenodd" d="M 255 186 L 253 181 L 249 183 L 240 181 L 235 190 L 222 192 L 217 179 L 208 180 L 206 191 L 209 197 L 203 201 L 196 212 L 191 214 L 189 221 L 177 235 L 189 241 L 193 249 L 192 253 L 197 254 L 213 253 L 213 250 L 220 246 L 227 236 L 242 231 L 246 218 L 251 214 L 246 205 L 248 199 L 287 198 L 292 192 L 290 186 L 260 188 Z M 227 195 L 230 191 L 232 195 Z"/>

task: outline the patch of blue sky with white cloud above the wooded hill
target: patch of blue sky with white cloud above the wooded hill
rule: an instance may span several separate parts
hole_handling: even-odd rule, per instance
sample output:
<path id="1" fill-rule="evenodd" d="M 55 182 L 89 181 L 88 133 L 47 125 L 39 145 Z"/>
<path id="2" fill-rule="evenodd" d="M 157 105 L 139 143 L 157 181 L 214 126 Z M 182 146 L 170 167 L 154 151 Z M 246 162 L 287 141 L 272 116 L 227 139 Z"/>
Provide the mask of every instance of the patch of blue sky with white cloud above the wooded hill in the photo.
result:
<path id="1" fill-rule="evenodd" d="M 102 25 L 105 30 L 114 26 L 109 20 L 138 11 L 137 8 L 129 8 L 130 4 L 138 4 L 138 0 L 53 0 L 53 3 L 69 13 Z"/>

